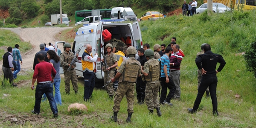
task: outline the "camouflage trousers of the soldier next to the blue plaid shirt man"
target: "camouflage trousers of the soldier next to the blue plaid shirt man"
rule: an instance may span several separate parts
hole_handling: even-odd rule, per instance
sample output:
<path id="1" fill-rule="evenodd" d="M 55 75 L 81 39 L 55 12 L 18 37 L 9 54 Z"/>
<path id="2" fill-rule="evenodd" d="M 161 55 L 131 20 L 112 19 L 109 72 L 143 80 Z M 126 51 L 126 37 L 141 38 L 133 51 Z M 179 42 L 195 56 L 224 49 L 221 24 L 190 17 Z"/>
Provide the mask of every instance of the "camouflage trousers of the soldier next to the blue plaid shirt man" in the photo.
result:
<path id="1" fill-rule="evenodd" d="M 145 90 L 145 102 L 148 106 L 148 110 L 154 110 L 154 108 L 160 108 L 158 100 L 158 90 L 160 81 L 147 82 Z"/>

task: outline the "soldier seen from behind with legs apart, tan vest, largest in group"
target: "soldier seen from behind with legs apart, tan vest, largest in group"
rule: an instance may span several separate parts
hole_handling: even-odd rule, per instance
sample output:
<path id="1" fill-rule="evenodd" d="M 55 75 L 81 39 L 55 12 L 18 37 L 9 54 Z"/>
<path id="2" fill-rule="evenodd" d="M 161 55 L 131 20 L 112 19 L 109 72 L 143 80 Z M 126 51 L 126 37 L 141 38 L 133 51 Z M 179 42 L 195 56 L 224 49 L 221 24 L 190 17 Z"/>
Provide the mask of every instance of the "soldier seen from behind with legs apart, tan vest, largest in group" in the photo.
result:
<path id="1" fill-rule="evenodd" d="M 137 53 L 135 47 L 128 47 L 126 54 L 128 55 L 128 59 L 123 61 L 121 66 L 116 73 L 116 76 L 111 79 L 111 82 L 116 81 L 119 78 L 119 85 L 116 90 L 116 95 L 114 97 L 114 106 L 113 106 L 113 116 L 112 120 L 117 122 L 117 113 L 120 110 L 120 103 L 122 98 L 126 96 L 127 99 L 127 111 L 128 117 L 126 122 L 131 122 L 131 115 L 134 113 L 133 105 L 134 105 L 134 86 L 137 77 L 141 76 L 141 64 L 139 61 L 135 59 L 135 54 Z"/>

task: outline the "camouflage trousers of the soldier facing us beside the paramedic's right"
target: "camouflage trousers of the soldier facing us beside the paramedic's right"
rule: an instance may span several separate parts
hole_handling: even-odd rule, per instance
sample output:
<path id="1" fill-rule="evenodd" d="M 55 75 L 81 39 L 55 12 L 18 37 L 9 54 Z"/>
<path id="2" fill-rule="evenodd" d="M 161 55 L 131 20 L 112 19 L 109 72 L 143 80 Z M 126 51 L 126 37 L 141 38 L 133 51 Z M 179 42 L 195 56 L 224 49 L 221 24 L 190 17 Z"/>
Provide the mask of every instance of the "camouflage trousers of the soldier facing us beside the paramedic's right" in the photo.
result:
<path id="1" fill-rule="evenodd" d="M 108 77 L 109 75 L 109 77 Z M 110 70 L 109 74 L 108 72 L 104 73 L 104 85 L 107 84 L 110 79 L 112 79 L 115 75 L 115 70 Z M 107 86 L 105 86 L 105 89 L 108 92 L 108 95 L 114 95 L 114 89 L 113 89 L 113 82 L 109 83 Z"/>

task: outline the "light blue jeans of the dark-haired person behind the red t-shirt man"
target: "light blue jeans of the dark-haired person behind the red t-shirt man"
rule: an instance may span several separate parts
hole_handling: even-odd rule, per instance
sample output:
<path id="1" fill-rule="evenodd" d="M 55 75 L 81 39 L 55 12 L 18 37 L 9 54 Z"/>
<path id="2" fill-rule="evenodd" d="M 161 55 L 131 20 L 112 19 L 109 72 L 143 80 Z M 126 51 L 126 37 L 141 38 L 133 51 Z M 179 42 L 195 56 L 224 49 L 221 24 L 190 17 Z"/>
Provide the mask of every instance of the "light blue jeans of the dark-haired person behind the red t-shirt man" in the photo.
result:
<path id="1" fill-rule="evenodd" d="M 54 99 L 56 102 L 56 105 L 62 105 L 61 103 L 61 92 L 60 92 L 60 83 L 61 83 L 61 78 L 58 79 L 54 79 L 52 86 L 54 84 L 54 88 L 55 88 L 55 94 L 54 94 Z M 44 96 L 42 97 L 42 102 L 44 102 L 47 99 L 45 93 Z"/>

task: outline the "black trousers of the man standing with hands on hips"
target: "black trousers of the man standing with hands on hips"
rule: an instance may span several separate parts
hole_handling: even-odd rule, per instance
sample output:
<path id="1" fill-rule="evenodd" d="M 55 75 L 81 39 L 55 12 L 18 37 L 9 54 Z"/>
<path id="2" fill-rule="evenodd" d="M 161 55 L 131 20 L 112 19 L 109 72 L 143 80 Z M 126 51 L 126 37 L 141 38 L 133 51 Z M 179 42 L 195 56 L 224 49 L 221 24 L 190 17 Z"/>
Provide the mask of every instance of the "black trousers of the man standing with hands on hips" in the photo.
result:
<path id="1" fill-rule="evenodd" d="M 207 77 L 202 77 L 201 84 L 198 89 L 198 95 L 195 99 L 193 110 L 196 111 L 198 106 L 201 103 L 201 99 L 204 95 L 205 90 L 209 87 L 211 99 L 212 99 L 212 111 L 217 111 L 218 103 L 217 103 L 217 96 L 216 96 L 216 88 L 217 88 L 218 79 L 216 74 L 208 75 Z"/>

